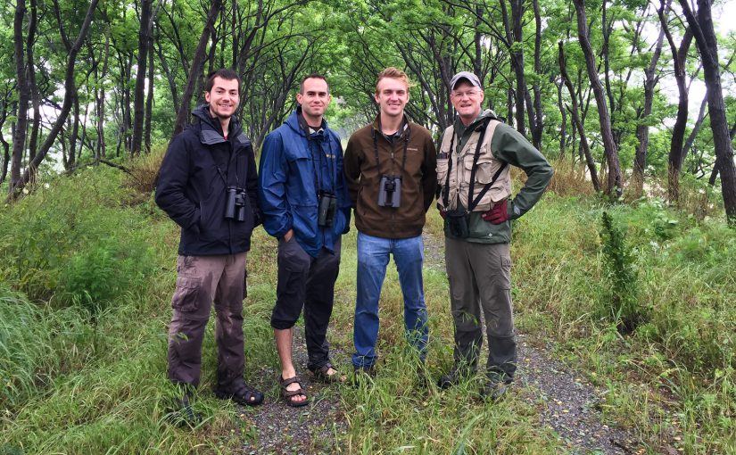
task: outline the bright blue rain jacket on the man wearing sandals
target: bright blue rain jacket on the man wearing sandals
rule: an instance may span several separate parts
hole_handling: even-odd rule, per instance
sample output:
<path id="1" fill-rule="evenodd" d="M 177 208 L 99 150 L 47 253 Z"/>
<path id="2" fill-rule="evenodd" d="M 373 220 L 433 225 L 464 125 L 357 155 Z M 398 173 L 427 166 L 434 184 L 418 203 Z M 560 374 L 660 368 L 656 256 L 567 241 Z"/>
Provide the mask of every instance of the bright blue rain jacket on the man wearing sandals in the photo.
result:
<path id="1" fill-rule="evenodd" d="M 294 229 L 305 252 L 318 257 L 322 247 L 350 229 L 350 195 L 343 176 L 343 147 L 323 121 L 322 132 L 307 137 L 297 108 L 263 142 L 260 152 L 260 210 L 263 227 L 275 237 Z M 337 195 L 331 227 L 318 227 L 318 191 Z"/>

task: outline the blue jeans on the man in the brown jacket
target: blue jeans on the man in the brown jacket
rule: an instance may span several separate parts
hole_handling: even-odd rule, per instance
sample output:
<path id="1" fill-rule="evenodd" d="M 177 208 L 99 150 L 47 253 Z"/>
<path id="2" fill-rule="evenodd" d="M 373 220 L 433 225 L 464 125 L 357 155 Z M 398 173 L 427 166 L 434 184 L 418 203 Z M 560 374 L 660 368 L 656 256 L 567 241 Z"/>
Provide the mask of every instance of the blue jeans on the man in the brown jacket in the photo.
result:
<path id="1" fill-rule="evenodd" d="M 422 236 L 390 239 L 358 233 L 358 293 L 355 302 L 355 323 L 352 365 L 370 368 L 376 362 L 378 338 L 378 299 L 384 284 L 389 255 L 399 271 L 401 294 L 404 296 L 404 327 L 409 342 L 424 360 L 426 355 L 426 305 L 422 261 L 424 242 Z"/>

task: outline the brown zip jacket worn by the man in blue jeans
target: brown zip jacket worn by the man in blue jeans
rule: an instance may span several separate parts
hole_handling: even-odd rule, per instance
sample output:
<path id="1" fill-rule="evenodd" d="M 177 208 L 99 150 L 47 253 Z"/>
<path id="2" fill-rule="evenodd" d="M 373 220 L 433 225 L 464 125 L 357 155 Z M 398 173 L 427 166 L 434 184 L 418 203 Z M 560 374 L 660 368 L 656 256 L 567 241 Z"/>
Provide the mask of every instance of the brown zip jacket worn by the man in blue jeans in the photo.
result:
<path id="1" fill-rule="evenodd" d="M 406 163 L 402 169 L 404 148 Z M 373 124 L 354 132 L 345 149 L 343 170 L 355 208 L 355 227 L 368 236 L 381 238 L 421 235 L 425 213 L 434 200 L 437 185 L 435 164 L 432 135 L 416 123 L 404 120 L 401 135 L 393 140 L 381 133 L 377 118 Z M 398 208 L 378 205 L 383 175 L 401 176 Z"/>

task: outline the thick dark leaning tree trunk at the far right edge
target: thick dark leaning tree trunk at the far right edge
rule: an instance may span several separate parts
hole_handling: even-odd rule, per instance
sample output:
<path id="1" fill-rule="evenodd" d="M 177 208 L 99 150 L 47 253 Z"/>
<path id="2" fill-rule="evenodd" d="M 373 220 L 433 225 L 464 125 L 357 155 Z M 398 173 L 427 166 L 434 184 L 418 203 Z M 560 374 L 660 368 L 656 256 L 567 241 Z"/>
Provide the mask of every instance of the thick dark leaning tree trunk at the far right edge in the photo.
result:
<path id="1" fill-rule="evenodd" d="M 733 148 L 726 118 L 724 92 L 721 86 L 721 71 L 718 65 L 718 42 L 715 39 L 711 4 L 709 0 L 698 0 L 697 16 L 687 0 L 680 0 L 682 12 L 695 37 L 707 88 L 708 116 L 713 130 L 715 146 L 715 168 L 721 174 L 721 192 L 724 195 L 726 219 L 736 226 L 736 167 L 733 165 Z"/>

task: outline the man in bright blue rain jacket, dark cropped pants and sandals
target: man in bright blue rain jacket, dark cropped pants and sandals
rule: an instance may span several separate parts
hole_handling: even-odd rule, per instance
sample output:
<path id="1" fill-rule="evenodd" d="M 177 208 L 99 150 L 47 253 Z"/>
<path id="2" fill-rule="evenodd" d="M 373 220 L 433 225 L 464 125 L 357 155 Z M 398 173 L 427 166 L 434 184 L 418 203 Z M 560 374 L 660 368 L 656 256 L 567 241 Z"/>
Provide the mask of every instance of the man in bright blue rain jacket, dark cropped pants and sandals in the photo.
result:
<path id="1" fill-rule="evenodd" d="M 289 406 L 309 402 L 292 362 L 294 323 L 304 309 L 307 368 L 318 380 L 342 380 L 329 359 L 327 324 L 335 300 L 340 236 L 350 225 L 340 139 L 323 119 L 327 80 L 302 79 L 296 111 L 271 132 L 260 155 L 263 227 L 278 238 L 278 285 L 271 315 L 281 360 L 279 385 Z"/>

